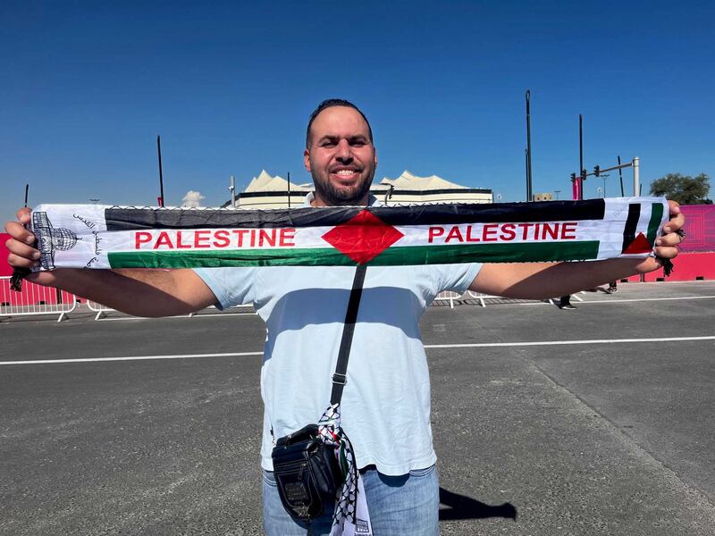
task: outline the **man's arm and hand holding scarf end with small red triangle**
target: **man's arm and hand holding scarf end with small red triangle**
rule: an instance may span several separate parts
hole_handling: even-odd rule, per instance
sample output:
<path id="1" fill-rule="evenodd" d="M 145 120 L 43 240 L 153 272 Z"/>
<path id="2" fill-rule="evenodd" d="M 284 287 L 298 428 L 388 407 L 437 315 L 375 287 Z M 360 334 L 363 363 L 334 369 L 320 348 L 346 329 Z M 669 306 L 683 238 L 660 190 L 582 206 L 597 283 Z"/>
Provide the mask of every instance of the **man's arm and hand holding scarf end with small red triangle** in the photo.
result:
<path id="1" fill-rule="evenodd" d="M 679 205 L 675 201 L 669 201 L 669 205 L 670 221 L 655 248 L 655 255 L 665 259 L 676 257 L 681 241 L 676 231 L 685 223 Z M 636 273 L 653 272 L 661 266 L 660 260 L 653 257 L 585 263 L 484 264 L 469 289 L 492 296 L 544 299 L 593 289 Z"/>

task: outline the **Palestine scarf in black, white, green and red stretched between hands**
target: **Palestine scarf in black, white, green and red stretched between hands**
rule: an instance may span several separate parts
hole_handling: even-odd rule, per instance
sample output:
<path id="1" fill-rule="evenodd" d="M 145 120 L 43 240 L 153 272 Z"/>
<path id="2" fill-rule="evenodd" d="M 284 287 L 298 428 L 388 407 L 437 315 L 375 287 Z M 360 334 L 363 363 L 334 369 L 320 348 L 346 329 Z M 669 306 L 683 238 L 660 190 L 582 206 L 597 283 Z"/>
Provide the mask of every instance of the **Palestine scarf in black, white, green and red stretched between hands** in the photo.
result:
<path id="1" fill-rule="evenodd" d="M 586 261 L 652 255 L 656 197 L 237 210 L 38 205 L 40 270 Z"/>

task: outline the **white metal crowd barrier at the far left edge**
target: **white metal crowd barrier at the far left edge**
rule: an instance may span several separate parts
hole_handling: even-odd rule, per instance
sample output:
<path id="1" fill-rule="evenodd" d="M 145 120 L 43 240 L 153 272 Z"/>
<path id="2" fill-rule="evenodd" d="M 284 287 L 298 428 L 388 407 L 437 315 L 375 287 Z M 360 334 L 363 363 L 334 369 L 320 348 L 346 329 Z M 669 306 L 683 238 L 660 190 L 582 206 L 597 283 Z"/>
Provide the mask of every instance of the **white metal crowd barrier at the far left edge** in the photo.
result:
<path id="1" fill-rule="evenodd" d="M 0 277 L 0 316 L 29 314 L 57 314 L 57 322 L 74 311 L 77 298 L 74 294 L 22 281 L 21 292 L 10 289 L 10 277 Z"/>

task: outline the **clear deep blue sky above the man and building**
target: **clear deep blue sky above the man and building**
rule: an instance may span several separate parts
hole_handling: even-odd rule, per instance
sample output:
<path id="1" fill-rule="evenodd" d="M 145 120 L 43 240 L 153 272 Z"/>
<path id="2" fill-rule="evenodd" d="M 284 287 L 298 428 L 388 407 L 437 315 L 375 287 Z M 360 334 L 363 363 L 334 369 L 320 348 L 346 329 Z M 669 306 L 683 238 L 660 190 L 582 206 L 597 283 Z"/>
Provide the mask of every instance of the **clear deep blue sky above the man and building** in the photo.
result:
<path id="1" fill-rule="evenodd" d="M 0 216 L 26 182 L 30 205 L 156 204 L 157 134 L 167 205 L 189 189 L 220 205 L 231 174 L 264 168 L 306 182 L 307 116 L 328 97 L 370 119 L 376 180 L 408 169 L 524 200 L 526 89 L 534 192 L 570 192 L 579 113 L 585 167 L 639 156 L 647 192 L 715 172 L 714 19 L 705 2 L 5 0 Z"/>

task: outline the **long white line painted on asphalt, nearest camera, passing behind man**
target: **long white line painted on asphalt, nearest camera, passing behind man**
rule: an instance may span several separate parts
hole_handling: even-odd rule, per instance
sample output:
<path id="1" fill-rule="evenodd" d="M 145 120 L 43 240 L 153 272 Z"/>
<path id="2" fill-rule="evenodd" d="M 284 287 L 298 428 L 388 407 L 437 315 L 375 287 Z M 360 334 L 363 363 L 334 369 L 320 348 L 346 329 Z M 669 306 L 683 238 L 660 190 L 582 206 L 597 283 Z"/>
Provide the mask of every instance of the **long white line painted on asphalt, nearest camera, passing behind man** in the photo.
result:
<path id="1" fill-rule="evenodd" d="M 565 346 L 578 344 L 628 344 L 638 342 L 686 342 L 715 340 L 715 335 L 703 337 L 657 337 L 652 339 L 590 339 L 590 340 L 532 340 L 527 342 L 475 342 L 467 344 L 425 344 L 427 349 L 436 348 L 514 348 L 531 346 Z M 231 352 L 229 354 L 177 354 L 173 356 L 86 357 L 78 359 L 38 359 L 37 361 L 0 361 L 3 364 L 61 364 L 99 363 L 103 361 L 150 361 L 154 359 L 194 359 L 197 357 L 245 357 L 263 356 L 263 352 Z"/>

